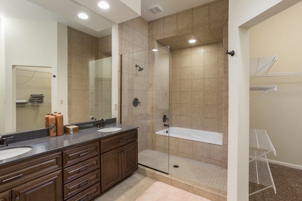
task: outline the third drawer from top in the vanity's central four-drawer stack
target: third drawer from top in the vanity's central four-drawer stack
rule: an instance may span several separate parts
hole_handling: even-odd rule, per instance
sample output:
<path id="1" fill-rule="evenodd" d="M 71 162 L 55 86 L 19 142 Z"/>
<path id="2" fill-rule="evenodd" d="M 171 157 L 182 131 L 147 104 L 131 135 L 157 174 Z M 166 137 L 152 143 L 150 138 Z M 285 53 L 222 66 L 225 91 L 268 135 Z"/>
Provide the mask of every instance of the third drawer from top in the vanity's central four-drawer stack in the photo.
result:
<path id="1" fill-rule="evenodd" d="M 71 197 L 78 192 L 86 189 L 89 186 L 99 182 L 101 180 L 100 169 L 90 172 L 78 179 L 75 179 L 64 185 L 64 199 Z"/>

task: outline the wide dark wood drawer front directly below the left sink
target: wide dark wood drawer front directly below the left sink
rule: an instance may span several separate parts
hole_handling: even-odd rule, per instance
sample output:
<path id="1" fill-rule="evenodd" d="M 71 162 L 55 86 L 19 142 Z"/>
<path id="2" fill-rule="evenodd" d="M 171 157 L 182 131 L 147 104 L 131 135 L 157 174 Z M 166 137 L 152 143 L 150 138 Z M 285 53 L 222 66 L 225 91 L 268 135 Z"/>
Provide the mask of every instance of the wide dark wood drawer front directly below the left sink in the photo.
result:
<path id="1" fill-rule="evenodd" d="M 0 171 L 0 186 L 8 186 L 11 183 L 20 184 L 33 177 L 38 177 L 62 167 L 61 152 L 45 154 L 40 157 L 21 161 L 14 165 L 7 165 Z"/>

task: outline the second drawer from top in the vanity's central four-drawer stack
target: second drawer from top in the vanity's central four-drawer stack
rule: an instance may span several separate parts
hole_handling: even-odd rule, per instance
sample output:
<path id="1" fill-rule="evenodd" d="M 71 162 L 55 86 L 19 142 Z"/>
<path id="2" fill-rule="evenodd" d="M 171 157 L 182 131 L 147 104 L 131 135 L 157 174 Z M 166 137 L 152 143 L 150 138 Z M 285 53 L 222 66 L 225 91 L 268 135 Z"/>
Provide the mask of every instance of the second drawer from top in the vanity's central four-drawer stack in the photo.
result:
<path id="1" fill-rule="evenodd" d="M 64 168 L 63 181 L 67 183 L 98 168 L 100 168 L 100 157 L 95 156 L 81 163 Z"/>

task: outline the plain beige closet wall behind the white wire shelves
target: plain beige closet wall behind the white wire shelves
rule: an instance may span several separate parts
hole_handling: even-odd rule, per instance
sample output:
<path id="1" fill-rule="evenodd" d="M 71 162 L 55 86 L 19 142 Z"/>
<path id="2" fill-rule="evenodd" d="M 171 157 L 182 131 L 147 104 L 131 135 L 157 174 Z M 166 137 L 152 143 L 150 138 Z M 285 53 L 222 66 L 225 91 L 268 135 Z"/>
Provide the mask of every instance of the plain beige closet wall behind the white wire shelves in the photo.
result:
<path id="1" fill-rule="evenodd" d="M 250 56 L 278 55 L 270 72 L 302 71 L 302 2 L 250 30 Z M 269 159 L 302 168 L 302 75 L 261 78 L 255 83 L 277 85 L 250 106 L 250 127 L 265 129 L 277 150 Z"/>

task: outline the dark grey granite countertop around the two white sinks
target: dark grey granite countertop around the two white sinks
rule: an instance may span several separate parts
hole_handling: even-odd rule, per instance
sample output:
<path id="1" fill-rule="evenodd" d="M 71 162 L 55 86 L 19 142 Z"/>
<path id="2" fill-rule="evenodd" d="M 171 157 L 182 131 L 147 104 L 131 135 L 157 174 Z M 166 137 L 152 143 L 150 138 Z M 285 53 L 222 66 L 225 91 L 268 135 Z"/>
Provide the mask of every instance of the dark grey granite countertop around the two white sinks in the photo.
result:
<path id="1" fill-rule="evenodd" d="M 115 132 L 103 133 L 103 132 L 98 132 L 100 128 L 94 127 L 94 128 L 80 130 L 79 133 L 75 133 L 72 135 L 64 134 L 62 136 L 56 136 L 56 137 L 42 137 L 33 140 L 27 140 L 27 141 L 9 144 L 7 148 L 32 147 L 32 150 L 24 154 L 21 154 L 19 156 L 0 160 L 0 167 L 13 162 L 25 160 L 34 156 L 39 156 L 53 151 L 61 151 L 62 149 L 70 146 L 80 145 L 80 144 L 100 140 L 108 136 L 118 135 L 119 133 L 124 133 L 138 128 L 125 124 L 109 124 L 106 125 L 105 127 L 121 127 L 122 129 Z"/>

